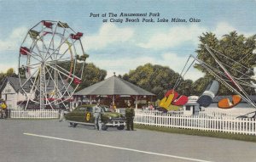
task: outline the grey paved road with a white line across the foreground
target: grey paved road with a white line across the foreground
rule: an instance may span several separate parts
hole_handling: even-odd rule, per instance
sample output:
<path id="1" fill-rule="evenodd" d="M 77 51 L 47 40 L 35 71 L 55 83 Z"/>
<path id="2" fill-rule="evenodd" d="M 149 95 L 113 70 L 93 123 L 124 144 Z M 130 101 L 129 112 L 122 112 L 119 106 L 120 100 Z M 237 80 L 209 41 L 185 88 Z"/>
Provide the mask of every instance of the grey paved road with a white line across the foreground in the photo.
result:
<path id="1" fill-rule="evenodd" d="M 256 161 L 256 143 L 157 131 L 96 131 L 58 120 L 0 120 L 2 162 Z"/>

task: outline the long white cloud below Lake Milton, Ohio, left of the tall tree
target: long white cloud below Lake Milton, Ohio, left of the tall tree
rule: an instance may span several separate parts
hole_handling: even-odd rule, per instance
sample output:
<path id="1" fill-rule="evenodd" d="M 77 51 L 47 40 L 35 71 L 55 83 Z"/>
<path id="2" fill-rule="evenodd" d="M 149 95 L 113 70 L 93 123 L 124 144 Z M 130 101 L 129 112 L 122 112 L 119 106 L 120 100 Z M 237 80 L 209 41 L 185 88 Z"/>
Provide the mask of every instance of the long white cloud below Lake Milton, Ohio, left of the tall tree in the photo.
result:
<path id="1" fill-rule="evenodd" d="M 172 27 L 167 32 L 159 32 L 154 36 L 151 36 L 148 42 L 138 43 L 138 46 L 159 49 L 176 47 L 181 45 L 183 42 L 192 42 L 197 44 L 198 36 L 205 31 L 207 31 L 205 28 L 198 25 Z"/>

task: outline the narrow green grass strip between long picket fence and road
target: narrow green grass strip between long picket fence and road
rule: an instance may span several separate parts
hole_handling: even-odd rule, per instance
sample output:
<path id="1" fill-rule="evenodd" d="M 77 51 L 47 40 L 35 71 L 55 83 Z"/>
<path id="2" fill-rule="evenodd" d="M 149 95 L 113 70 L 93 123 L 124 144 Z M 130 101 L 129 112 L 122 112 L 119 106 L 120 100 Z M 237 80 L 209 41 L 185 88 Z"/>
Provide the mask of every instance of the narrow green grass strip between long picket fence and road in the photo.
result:
<path id="1" fill-rule="evenodd" d="M 202 137 L 218 137 L 232 140 L 241 140 L 248 142 L 256 142 L 256 136 L 253 135 L 241 135 L 241 134 L 231 134 L 224 132 L 214 132 L 214 131 L 198 131 L 190 129 L 177 129 L 177 128 L 168 128 L 160 126 L 145 126 L 135 124 L 137 129 L 145 129 L 150 131 L 162 131 L 167 133 L 177 133 L 177 134 L 186 134 L 192 136 L 202 136 Z"/>

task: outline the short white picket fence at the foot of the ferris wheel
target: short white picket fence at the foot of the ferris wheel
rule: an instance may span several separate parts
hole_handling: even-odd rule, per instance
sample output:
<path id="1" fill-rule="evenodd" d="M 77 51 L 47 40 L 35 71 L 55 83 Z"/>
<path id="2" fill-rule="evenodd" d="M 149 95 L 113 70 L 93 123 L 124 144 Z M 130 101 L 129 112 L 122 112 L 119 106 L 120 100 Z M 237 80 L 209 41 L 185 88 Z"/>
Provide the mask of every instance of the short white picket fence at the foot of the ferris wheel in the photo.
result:
<path id="1" fill-rule="evenodd" d="M 55 119 L 59 118 L 59 110 L 32 109 L 32 110 L 11 110 L 10 118 L 18 119 Z"/>

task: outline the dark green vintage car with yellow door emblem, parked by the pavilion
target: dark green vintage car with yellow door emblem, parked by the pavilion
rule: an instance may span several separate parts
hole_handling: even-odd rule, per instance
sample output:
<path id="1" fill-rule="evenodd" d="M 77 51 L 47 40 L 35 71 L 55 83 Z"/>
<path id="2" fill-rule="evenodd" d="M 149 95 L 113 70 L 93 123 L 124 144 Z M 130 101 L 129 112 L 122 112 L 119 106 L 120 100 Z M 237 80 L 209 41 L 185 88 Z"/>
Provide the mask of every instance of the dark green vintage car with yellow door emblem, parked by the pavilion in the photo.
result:
<path id="1" fill-rule="evenodd" d="M 95 104 L 85 104 L 73 109 L 73 111 L 65 115 L 65 119 L 70 126 L 87 125 L 94 126 L 95 117 L 93 115 L 93 107 Z M 119 113 L 113 112 L 106 105 L 102 107 L 102 130 L 106 131 L 108 127 L 117 127 L 118 130 L 125 128 L 125 117 Z"/>

